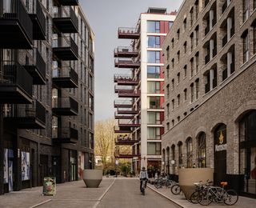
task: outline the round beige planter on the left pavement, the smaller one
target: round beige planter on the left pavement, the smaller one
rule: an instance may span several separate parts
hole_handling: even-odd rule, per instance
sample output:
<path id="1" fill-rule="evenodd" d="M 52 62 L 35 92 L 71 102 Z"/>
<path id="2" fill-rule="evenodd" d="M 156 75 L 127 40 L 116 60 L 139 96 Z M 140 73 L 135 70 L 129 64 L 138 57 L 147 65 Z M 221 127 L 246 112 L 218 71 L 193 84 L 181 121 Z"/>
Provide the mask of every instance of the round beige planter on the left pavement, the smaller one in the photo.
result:
<path id="1" fill-rule="evenodd" d="M 98 185 L 102 182 L 102 170 L 83 170 L 82 179 L 87 188 L 98 188 Z"/>

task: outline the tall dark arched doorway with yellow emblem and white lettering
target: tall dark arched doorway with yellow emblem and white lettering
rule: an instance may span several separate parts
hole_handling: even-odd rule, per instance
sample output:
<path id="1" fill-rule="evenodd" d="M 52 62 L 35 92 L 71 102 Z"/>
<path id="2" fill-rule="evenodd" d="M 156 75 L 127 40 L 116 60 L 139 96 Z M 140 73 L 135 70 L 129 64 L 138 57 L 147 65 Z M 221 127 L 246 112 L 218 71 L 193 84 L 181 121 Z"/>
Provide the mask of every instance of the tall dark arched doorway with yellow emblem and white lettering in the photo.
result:
<path id="1" fill-rule="evenodd" d="M 220 124 L 214 130 L 214 184 L 226 181 L 226 125 Z"/>

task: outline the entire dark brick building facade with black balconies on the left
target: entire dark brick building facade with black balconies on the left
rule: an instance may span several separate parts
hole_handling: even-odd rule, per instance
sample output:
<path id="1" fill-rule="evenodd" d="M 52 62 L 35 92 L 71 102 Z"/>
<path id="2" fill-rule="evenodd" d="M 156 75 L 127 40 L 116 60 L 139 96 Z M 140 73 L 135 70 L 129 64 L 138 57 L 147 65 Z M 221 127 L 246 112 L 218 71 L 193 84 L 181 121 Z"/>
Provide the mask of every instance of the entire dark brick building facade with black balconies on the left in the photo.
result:
<path id="1" fill-rule="evenodd" d="M 94 166 L 94 33 L 78 0 L 0 1 L 0 194 Z"/>

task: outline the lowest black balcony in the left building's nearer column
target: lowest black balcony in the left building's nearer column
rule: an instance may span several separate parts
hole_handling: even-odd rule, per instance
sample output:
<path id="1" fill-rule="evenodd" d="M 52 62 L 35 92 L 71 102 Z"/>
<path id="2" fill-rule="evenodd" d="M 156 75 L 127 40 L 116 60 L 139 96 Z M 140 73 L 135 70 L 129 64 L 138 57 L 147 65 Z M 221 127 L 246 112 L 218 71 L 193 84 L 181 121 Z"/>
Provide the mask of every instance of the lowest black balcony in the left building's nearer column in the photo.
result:
<path id="1" fill-rule="evenodd" d="M 45 129 L 46 109 L 38 101 L 34 104 L 8 106 L 4 110 L 4 122 L 18 129 Z"/>

